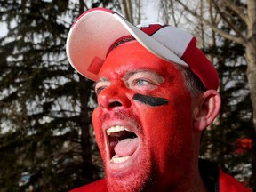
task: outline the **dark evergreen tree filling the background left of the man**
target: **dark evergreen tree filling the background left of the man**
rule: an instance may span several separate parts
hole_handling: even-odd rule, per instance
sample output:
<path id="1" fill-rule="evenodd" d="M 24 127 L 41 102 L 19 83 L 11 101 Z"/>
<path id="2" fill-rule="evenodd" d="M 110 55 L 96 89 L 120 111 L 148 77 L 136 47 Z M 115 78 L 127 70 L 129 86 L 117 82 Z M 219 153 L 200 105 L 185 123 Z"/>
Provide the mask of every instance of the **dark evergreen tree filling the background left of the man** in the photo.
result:
<path id="1" fill-rule="evenodd" d="M 92 82 L 76 74 L 65 52 L 79 4 L 13 0 L 0 7 L 7 24 L 0 39 L 0 190 L 67 191 L 96 180 Z"/>

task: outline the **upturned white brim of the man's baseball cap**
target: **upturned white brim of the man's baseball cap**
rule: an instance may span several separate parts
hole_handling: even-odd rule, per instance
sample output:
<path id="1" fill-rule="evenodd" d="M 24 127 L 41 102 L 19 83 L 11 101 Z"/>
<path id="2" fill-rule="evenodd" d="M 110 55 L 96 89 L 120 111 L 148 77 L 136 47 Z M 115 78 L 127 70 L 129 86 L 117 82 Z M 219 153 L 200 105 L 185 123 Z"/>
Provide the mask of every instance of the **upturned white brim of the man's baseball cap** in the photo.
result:
<path id="1" fill-rule="evenodd" d="M 109 47 L 120 37 L 132 35 L 141 45 L 157 57 L 187 66 L 175 53 L 135 27 L 116 12 L 93 9 L 84 12 L 68 33 L 68 60 L 78 73 L 93 81 L 106 59 Z M 93 66 L 94 65 L 94 66 Z"/>

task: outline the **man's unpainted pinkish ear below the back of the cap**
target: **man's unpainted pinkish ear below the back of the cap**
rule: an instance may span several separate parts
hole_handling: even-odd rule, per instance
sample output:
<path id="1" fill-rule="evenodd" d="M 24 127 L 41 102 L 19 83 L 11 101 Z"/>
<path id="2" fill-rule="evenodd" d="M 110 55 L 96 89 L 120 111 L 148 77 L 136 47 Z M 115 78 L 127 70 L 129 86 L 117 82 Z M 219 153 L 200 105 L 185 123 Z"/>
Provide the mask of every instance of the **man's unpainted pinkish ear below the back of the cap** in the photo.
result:
<path id="1" fill-rule="evenodd" d="M 216 116 L 218 116 L 221 106 L 219 92 L 215 90 L 207 90 L 198 101 L 194 114 L 194 129 L 202 132 L 206 127 L 212 124 Z"/>

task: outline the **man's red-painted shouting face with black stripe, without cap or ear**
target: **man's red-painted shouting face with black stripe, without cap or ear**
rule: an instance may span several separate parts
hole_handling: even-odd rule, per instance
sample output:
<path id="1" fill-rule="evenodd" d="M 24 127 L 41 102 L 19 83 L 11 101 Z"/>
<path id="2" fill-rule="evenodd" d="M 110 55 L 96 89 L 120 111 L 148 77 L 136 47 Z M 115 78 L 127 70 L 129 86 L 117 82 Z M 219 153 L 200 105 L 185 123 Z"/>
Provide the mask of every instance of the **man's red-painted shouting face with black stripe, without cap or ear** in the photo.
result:
<path id="1" fill-rule="evenodd" d="M 133 41 L 110 52 L 95 90 L 92 120 L 109 191 L 175 186 L 192 158 L 191 98 L 180 69 Z"/>

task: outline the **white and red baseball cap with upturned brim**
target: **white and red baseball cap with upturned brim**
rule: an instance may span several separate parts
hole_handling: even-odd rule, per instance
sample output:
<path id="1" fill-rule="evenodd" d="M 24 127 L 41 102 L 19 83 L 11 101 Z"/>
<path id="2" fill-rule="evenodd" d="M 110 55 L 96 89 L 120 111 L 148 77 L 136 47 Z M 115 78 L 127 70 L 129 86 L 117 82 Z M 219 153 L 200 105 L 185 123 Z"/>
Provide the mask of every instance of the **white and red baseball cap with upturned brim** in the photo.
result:
<path id="1" fill-rule="evenodd" d="M 163 60 L 190 68 L 206 89 L 218 89 L 218 73 L 204 52 L 196 47 L 195 36 L 160 24 L 135 27 L 105 8 L 84 12 L 74 22 L 68 33 L 68 60 L 78 73 L 96 81 L 110 47 L 124 36 L 133 36 Z"/>

